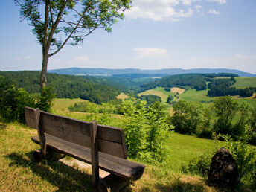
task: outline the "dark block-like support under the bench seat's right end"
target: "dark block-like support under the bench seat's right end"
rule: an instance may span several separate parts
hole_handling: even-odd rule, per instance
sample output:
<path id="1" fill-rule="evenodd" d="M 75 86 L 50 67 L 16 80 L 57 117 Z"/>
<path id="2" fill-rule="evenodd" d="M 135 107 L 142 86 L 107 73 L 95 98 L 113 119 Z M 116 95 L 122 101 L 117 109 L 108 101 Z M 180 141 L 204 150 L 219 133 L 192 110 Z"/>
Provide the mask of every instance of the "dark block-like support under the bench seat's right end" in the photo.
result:
<path id="1" fill-rule="evenodd" d="M 128 179 L 122 179 L 114 174 L 110 174 L 103 179 L 100 179 L 99 185 L 97 186 L 97 191 L 99 192 L 109 192 L 109 191 L 120 191 L 130 184 Z"/>

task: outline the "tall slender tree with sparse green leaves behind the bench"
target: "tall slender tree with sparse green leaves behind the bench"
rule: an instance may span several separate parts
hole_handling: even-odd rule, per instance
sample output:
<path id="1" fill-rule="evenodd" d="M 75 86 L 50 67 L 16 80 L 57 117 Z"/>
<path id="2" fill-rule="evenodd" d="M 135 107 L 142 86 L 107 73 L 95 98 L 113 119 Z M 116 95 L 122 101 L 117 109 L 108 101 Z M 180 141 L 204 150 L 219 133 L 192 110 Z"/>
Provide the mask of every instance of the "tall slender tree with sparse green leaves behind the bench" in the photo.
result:
<path id="1" fill-rule="evenodd" d="M 78 45 L 97 28 L 110 32 L 124 18 L 131 0 L 14 0 L 22 19 L 42 45 L 40 86 L 46 84 L 48 59 L 64 45 Z"/>

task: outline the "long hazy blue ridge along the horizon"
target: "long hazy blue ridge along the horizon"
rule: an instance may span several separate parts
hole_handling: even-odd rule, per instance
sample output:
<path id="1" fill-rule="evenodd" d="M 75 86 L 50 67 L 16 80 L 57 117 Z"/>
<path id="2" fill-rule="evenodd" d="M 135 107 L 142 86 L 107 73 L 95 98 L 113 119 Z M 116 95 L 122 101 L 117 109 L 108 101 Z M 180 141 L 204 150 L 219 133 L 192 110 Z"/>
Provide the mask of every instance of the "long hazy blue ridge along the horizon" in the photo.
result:
<path id="1" fill-rule="evenodd" d="M 120 74 L 136 74 L 135 77 L 141 77 L 138 74 L 151 74 L 148 77 L 164 77 L 167 75 L 174 74 L 191 74 L 191 73 L 202 73 L 202 74 L 220 74 L 220 73 L 231 73 L 238 74 L 240 77 L 256 77 L 256 74 L 250 74 L 247 72 L 227 69 L 227 68 L 193 68 L 193 69 L 182 69 L 182 68 L 163 68 L 158 70 L 142 70 L 138 68 L 124 68 L 124 69 L 111 69 L 111 68 L 60 68 L 54 70 L 48 70 L 50 73 L 56 74 L 72 74 L 81 76 L 113 76 Z"/>

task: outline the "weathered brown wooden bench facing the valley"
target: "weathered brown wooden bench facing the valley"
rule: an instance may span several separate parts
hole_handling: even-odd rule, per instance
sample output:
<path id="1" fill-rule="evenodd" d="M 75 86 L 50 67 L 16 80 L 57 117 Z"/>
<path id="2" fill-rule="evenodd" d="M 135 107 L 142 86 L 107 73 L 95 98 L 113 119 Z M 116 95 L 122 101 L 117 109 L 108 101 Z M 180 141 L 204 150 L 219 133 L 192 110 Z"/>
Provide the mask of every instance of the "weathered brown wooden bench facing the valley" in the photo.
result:
<path id="1" fill-rule="evenodd" d="M 25 107 L 28 127 L 37 129 L 31 139 L 41 146 L 42 157 L 56 151 L 92 164 L 92 181 L 100 191 L 118 191 L 144 173 L 144 164 L 127 160 L 124 130 Z M 109 176 L 99 178 L 99 168 Z M 120 185 L 119 185 L 120 184 Z"/>

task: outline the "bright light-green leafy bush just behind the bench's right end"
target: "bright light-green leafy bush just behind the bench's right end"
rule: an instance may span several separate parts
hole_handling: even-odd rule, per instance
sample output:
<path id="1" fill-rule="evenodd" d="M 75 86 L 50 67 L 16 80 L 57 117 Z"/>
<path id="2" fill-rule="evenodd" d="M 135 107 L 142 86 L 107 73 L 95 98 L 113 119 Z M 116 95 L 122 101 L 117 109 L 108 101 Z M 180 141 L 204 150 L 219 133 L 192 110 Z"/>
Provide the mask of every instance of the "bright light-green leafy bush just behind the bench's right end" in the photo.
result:
<path id="1" fill-rule="evenodd" d="M 164 143 L 170 129 L 164 106 L 156 102 L 147 107 L 144 100 L 139 103 L 125 100 L 121 111 L 124 112 L 122 127 L 129 157 L 163 161 L 166 156 Z"/>

